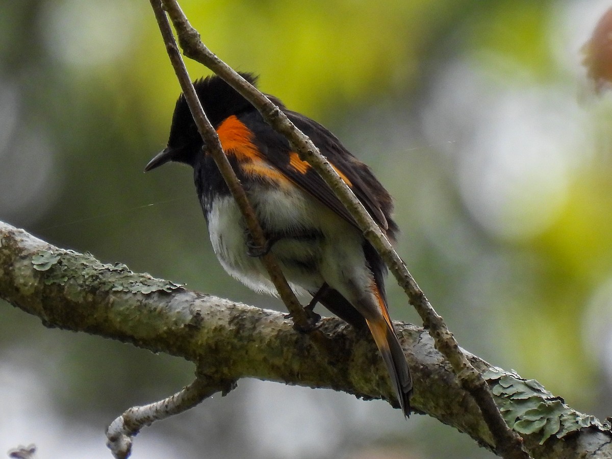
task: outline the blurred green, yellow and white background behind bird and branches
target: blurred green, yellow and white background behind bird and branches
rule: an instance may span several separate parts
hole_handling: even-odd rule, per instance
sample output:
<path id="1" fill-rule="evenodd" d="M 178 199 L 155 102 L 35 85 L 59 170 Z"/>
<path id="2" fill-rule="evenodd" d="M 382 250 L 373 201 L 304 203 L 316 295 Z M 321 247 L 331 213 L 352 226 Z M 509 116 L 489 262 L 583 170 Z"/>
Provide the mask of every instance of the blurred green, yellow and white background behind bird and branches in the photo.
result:
<path id="1" fill-rule="evenodd" d="M 599 0 L 182 1 L 204 43 L 317 119 L 395 196 L 398 251 L 461 346 L 612 411 L 612 95 L 581 46 Z M 189 64 L 195 79 L 209 73 Z M 284 310 L 212 253 L 192 172 L 143 167 L 179 86 L 149 2 L 0 5 L 0 219 L 188 288 Z M 419 324 L 389 280 L 391 315 Z M 0 456 L 108 458 L 104 430 L 193 365 L 49 330 L 0 302 Z M 133 458 L 491 458 L 382 401 L 243 380 Z"/>

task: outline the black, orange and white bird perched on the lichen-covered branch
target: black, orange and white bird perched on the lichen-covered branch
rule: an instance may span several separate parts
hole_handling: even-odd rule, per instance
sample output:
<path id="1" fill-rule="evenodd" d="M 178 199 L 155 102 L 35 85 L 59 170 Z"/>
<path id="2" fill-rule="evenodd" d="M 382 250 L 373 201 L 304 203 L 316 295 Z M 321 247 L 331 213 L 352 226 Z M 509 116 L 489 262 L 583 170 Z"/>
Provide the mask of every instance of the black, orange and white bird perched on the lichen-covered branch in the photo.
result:
<path id="1" fill-rule="evenodd" d="M 256 86 L 258 77 L 241 72 Z M 300 159 L 285 136 L 217 75 L 193 83 L 223 152 L 241 181 L 267 238 L 256 247 L 230 189 L 207 151 L 184 94 L 174 107 L 168 144 L 147 163 L 151 171 L 168 162 L 193 168 L 212 248 L 223 269 L 259 293 L 275 295 L 261 256 L 274 254 L 297 294 L 310 294 L 308 308 L 322 304 L 359 330 L 368 329 L 383 357 L 399 407 L 411 412 L 412 377 L 387 308 L 381 256 L 329 185 Z M 398 226 L 392 198 L 370 168 L 323 125 L 274 102 L 310 137 L 390 241 Z"/>

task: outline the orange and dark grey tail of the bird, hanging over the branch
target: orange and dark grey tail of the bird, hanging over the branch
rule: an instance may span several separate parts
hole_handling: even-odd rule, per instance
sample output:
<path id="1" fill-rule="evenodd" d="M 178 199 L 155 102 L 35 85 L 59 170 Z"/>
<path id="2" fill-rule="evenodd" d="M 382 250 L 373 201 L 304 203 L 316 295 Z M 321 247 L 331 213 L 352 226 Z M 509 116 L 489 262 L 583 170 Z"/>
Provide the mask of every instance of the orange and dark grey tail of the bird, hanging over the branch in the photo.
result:
<path id="1" fill-rule="evenodd" d="M 412 377 L 406 356 L 401 348 L 400 341 L 395 335 L 393 324 L 387 312 L 386 301 L 383 294 L 380 294 L 378 288 L 374 291 L 378 299 L 382 316 L 375 319 L 366 319 L 368 328 L 374 338 L 376 347 L 383 356 L 383 360 L 387 365 L 387 371 L 395 387 L 397 398 L 400 401 L 401 411 L 404 416 L 410 416 L 410 395 L 412 394 Z"/>

